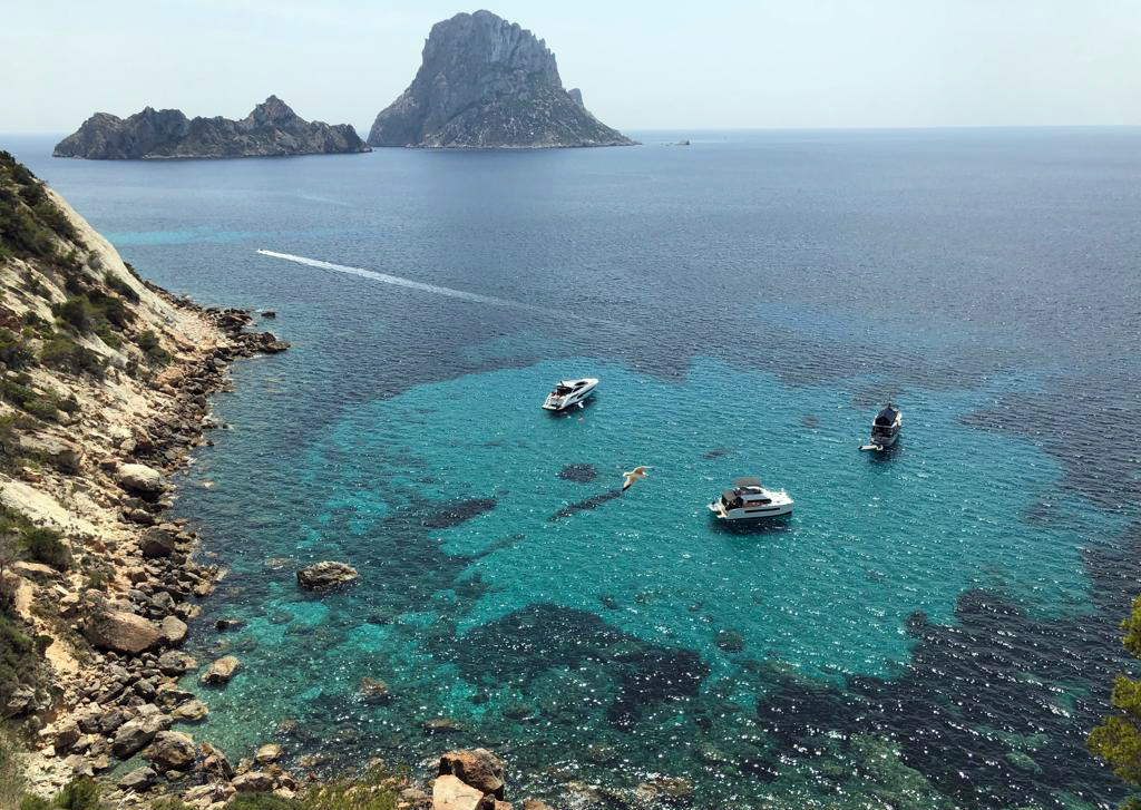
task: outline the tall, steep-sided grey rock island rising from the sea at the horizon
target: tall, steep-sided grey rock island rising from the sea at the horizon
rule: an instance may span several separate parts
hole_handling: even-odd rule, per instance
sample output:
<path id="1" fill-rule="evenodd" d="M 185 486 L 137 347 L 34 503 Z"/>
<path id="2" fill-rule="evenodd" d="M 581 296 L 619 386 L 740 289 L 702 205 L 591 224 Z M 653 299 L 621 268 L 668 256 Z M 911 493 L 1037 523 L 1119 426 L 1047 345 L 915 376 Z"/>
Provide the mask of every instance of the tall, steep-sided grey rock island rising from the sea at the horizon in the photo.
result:
<path id="1" fill-rule="evenodd" d="M 566 91 L 543 40 L 491 11 L 436 23 L 412 84 L 377 116 L 373 146 L 625 146 Z"/>

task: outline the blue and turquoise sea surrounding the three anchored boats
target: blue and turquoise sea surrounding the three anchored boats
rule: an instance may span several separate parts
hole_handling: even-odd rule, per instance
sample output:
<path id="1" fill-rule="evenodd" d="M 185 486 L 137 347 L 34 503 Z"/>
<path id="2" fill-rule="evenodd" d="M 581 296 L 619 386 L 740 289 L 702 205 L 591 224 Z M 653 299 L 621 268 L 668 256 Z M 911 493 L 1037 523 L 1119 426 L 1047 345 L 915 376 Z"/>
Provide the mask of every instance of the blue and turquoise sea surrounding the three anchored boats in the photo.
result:
<path id="1" fill-rule="evenodd" d="M 641 139 L 167 163 L 0 141 L 146 277 L 275 309 L 294 347 L 235 368 L 233 430 L 183 476 L 229 569 L 192 647 L 244 662 L 195 735 L 331 767 L 488 745 L 512 795 L 566 807 L 655 773 L 698 808 L 1119 799 L 1083 740 L 1141 590 L 1141 130 Z M 588 373 L 590 407 L 539 408 Z M 857 452 L 889 397 L 899 447 Z M 713 525 L 747 473 L 796 513 Z M 359 586 L 299 592 L 316 559 Z"/>

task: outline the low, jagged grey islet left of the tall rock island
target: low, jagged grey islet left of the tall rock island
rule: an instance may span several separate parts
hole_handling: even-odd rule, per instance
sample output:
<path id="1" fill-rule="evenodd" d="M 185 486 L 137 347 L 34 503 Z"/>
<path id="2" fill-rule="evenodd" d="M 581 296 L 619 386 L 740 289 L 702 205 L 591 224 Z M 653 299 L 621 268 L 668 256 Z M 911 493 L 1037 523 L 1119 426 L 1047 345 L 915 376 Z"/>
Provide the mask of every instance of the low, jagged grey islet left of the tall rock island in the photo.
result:
<path id="1" fill-rule="evenodd" d="M 60 140 L 56 157 L 268 157 L 369 152 L 347 123 L 306 121 L 270 96 L 241 121 L 187 119 L 178 110 L 147 107 L 127 119 L 96 113 Z"/>

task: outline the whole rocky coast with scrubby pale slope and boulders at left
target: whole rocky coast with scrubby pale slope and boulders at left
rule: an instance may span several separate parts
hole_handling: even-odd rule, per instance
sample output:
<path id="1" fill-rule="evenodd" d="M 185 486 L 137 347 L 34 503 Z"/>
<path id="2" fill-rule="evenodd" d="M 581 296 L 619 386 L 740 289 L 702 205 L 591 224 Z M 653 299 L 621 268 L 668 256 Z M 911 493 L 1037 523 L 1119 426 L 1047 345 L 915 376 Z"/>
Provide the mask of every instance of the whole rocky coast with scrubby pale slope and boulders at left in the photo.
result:
<path id="1" fill-rule="evenodd" d="M 448 752 L 420 778 L 374 761 L 323 781 L 286 770 L 318 763 L 286 763 L 272 739 L 232 763 L 186 730 L 210 710 L 181 679 L 225 688 L 242 662 L 181 649 L 225 570 L 196 559 L 196 533 L 169 515 L 172 476 L 224 427 L 210 398 L 232 390 L 230 365 L 290 348 L 251 329 L 256 317 L 144 281 L 0 153 L 0 715 L 23 742 L 13 755 L 0 734 L 0 805 L 221 810 L 272 793 L 277 804 L 254 807 L 550 810 L 504 801 L 505 766 L 483 748 Z M 323 561 L 297 578 L 323 592 L 357 572 Z M 390 699 L 365 681 L 366 699 Z"/>

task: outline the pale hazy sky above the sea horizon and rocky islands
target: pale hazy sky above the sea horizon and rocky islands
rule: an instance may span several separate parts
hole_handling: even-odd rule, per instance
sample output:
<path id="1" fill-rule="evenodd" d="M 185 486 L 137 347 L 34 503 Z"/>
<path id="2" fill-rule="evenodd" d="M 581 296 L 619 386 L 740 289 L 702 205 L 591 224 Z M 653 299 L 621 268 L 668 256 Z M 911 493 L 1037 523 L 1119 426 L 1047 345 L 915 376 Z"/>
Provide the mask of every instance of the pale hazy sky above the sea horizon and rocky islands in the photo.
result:
<path id="1" fill-rule="evenodd" d="M 277 94 L 366 135 L 455 0 L 5 0 L 0 132 Z M 1141 0 L 499 0 L 620 129 L 1141 124 Z"/>

